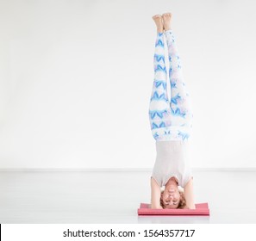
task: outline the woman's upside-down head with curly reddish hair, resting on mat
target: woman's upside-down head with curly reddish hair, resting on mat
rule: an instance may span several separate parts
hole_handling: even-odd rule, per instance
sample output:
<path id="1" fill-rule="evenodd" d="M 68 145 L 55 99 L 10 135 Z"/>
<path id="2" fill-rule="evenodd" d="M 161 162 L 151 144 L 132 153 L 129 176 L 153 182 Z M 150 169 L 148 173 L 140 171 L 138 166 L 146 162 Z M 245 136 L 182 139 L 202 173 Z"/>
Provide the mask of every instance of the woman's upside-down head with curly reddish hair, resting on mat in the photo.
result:
<path id="1" fill-rule="evenodd" d="M 186 207 L 184 192 L 178 190 L 178 182 L 175 178 L 170 178 L 166 183 L 165 190 L 161 192 L 160 205 L 163 208 Z"/>

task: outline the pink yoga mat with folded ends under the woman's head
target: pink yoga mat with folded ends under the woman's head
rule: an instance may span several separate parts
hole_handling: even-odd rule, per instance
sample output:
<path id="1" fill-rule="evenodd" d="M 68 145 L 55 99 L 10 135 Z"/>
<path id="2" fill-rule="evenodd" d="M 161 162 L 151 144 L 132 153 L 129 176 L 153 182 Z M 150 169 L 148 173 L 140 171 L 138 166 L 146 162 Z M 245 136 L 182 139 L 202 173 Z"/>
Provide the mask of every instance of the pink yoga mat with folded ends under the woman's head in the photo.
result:
<path id="1" fill-rule="evenodd" d="M 208 215 L 208 203 L 197 203 L 196 209 L 153 209 L 148 203 L 140 203 L 138 215 Z"/>

